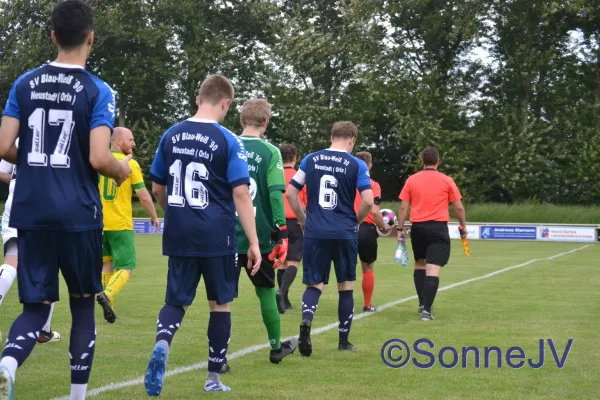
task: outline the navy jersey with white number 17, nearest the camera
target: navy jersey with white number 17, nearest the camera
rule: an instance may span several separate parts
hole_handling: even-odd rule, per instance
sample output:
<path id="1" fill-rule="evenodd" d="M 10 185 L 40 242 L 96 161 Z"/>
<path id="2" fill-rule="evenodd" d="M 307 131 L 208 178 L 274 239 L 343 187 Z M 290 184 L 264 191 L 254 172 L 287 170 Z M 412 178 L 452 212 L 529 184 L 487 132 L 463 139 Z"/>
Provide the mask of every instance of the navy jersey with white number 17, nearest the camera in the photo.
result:
<path id="1" fill-rule="evenodd" d="M 83 67 L 53 62 L 15 81 L 3 115 L 20 121 L 10 226 L 71 232 L 102 228 L 98 174 L 89 161 L 90 131 L 113 129 L 111 88 Z"/>

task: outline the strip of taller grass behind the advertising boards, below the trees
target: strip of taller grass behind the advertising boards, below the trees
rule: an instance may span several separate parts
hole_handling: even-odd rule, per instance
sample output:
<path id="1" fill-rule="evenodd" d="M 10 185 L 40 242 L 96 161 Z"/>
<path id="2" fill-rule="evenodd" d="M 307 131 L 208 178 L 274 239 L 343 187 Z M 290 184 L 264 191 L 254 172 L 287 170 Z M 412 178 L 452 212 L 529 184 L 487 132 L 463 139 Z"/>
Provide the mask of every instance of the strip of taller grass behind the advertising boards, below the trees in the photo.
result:
<path id="1" fill-rule="evenodd" d="M 398 211 L 400 203 L 384 202 L 382 208 Z M 512 222 L 543 224 L 600 224 L 598 206 L 555 204 L 466 204 L 467 222 Z M 454 219 L 452 207 L 451 217 Z"/>

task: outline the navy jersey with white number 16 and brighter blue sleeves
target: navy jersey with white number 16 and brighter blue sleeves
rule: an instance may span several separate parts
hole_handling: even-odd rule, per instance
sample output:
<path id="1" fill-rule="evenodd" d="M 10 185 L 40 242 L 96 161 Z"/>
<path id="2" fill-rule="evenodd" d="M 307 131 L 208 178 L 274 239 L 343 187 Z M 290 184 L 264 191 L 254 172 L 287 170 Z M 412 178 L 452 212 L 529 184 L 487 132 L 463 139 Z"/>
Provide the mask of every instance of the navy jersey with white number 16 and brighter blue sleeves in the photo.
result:
<path id="1" fill-rule="evenodd" d="M 165 132 L 150 178 L 167 186 L 163 254 L 234 254 L 233 188 L 250 185 L 241 139 L 215 121 L 190 118 Z"/>

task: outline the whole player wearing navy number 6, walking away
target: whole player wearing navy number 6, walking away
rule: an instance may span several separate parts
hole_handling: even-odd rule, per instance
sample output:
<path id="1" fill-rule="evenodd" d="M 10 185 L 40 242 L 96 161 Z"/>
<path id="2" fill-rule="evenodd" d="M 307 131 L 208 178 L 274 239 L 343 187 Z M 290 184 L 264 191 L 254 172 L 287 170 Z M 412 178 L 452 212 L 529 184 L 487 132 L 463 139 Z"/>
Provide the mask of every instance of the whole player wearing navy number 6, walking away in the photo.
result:
<path id="1" fill-rule="evenodd" d="M 324 285 L 329 283 L 331 263 L 339 291 L 339 344 L 342 351 L 355 350 L 348 341 L 354 314 L 354 281 L 358 253 L 358 225 L 371 212 L 373 191 L 364 161 L 352 156 L 358 129 L 351 122 L 336 122 L 331 130 L 331 147 L 307 155 L 290 181 L 287 199 L 304 225 L 304 272 L 302 282 L 302 323 L 298 348 L 312 354 L 310 330 Z M 307 211 L 300 206 L 298 193 L 306 185 Z M 356 191 L 362 202 L 354 211 Z"/>

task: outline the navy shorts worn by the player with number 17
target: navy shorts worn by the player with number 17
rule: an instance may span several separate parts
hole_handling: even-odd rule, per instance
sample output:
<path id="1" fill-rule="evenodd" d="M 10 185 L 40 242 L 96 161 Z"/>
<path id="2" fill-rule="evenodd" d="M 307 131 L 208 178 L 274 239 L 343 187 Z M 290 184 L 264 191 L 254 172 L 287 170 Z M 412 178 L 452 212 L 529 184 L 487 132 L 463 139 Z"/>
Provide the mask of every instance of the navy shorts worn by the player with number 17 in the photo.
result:
<path id="1" fill-rule="evenodd" d="M 102 291 L 102 229 L 83 232 L 19 229 L 19 299 L 21 303 L 58 301 L 58 272 L 70 294 Z"/>

